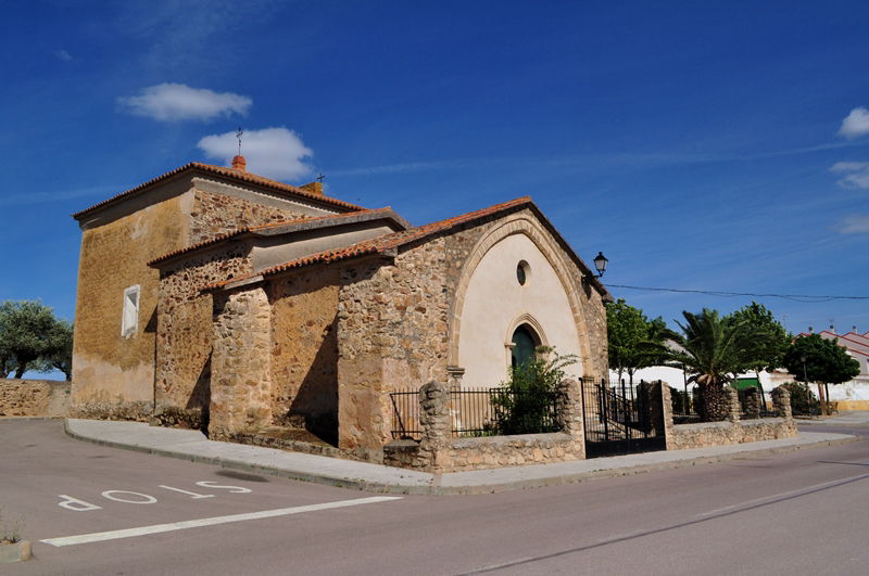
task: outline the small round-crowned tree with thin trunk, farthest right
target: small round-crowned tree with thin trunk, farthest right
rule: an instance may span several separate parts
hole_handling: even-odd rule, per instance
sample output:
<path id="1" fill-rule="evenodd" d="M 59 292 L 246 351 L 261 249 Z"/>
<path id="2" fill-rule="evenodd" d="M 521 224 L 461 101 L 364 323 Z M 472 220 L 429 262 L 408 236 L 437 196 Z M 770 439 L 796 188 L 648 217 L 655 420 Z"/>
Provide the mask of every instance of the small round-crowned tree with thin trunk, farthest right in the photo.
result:
<path id="1" fill-rule="evenodd" d="M 818 384 L 818 398 L 824 413 L 829 412 L 823 384 L 841 384 L 860 373 L 860 363 L 837 344 L 819 334 L 797 336 L 784 353 L 782 364 L 799 382 Z"/>

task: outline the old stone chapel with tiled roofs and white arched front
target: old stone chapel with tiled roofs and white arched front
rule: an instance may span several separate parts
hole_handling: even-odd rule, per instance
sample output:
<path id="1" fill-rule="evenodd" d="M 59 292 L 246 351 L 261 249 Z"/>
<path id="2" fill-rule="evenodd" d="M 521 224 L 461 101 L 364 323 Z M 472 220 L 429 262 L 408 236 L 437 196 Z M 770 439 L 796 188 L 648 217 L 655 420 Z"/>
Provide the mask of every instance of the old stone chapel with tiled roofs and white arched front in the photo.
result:
<path id="1" fill-rule="evenodd" d="M 390 392 L 494 386 L 539 345 L 606 374 L 610 296 L 528 196 L 415 227 L 237 156 L 74 218 L 78 417 L 213 439 L 303 425 L 377 461 Z"/>

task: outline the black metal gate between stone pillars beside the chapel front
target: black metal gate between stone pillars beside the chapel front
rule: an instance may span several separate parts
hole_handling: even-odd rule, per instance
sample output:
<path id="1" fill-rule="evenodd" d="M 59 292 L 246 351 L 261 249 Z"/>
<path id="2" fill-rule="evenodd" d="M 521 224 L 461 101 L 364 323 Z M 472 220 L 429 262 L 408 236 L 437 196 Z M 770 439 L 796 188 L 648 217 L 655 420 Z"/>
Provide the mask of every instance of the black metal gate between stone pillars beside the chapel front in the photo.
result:
<path id="1" fill-rule="evenodd" d="M 644 382 L 582 381 L 585 458 L 665 448 L 664 431 L 653 424 L 651 391 Z"/>

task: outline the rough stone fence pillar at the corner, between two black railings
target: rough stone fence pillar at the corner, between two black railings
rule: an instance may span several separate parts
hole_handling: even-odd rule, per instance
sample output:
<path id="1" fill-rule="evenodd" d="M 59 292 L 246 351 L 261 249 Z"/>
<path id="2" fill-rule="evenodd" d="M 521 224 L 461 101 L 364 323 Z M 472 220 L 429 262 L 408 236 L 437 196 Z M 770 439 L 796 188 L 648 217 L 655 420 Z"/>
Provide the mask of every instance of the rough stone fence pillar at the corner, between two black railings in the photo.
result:
<path id="1" fill-rule="evenodd" d="M 449 465 L 445 462 L 446 444 L 450 441 L 450 386 L 431 381 L 419 388 L 419 424 L 423 439 L 419 441 L 417 465 L 436 474 Z"/>

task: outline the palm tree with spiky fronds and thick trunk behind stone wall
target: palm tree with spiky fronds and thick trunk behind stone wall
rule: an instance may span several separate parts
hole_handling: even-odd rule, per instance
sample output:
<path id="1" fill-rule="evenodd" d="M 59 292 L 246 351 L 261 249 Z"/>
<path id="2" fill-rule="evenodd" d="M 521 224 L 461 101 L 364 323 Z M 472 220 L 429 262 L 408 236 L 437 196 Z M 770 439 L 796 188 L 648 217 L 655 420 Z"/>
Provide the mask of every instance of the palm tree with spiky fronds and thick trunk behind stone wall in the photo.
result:
<path id="1" fill-rule="evenodd" d="M 723 389 L 736 374 L 755 366 L 758 359 L 747 346 L 748 327 L 744 320 L 721 317 L 717 310 L 704 308 L 698 315 L 683 311 L 684 324 L 671 332 L 678 349 L 660 346 L 659 354 L 667 363 L 684 367 L 691 373 L 689 382 L 700 387 L 698 412 L 707 421 L 727 417 Z"/>

